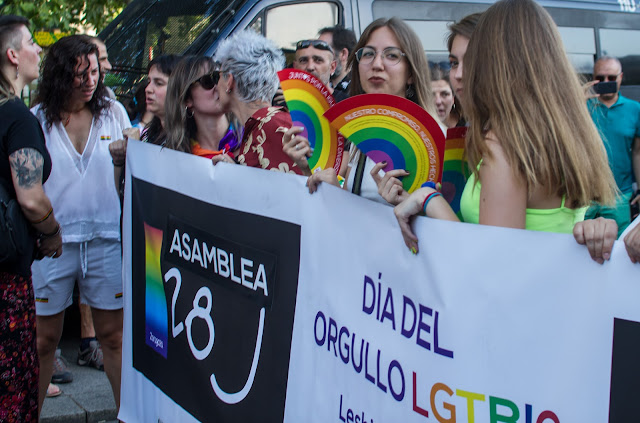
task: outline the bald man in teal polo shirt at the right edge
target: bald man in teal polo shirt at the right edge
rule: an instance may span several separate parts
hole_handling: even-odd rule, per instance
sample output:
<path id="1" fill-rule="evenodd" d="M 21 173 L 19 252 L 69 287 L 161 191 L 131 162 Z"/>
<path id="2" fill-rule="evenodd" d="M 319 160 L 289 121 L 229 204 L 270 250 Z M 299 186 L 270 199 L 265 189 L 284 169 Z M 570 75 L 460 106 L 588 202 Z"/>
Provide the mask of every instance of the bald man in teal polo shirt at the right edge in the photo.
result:
<path id="1" fill-rule="evenodd" d="M 640 203 L 640 192 L 633 192 L 634 180 L 640 183 L 640 103 L 619 93 L 622 65 L 614 57 L 601 57 L 593 67 L 594 91 L 601 94 L 587 105 L 609 158 L 609 166 L 621 192 L 615 207 L 593 206 L 585 219 L 602 216 L 618 223 L 618 235 L 631 221 L 630 203 Z M 599 90 L 598 84 L 611 84 L 611 91 Z M 602 87 L 605 87 L 604 85 Z"/>

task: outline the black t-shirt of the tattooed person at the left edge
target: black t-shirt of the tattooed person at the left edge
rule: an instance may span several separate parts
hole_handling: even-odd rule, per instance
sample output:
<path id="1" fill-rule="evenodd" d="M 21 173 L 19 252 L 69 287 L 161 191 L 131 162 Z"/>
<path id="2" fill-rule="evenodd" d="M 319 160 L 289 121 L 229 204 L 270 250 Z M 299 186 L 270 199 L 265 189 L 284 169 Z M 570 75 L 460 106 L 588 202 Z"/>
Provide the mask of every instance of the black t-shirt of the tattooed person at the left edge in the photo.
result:
<path id="1" fill-rule="evenodd" d="M 19 98 L 7 101 L 0 106 L 0 183 L 9 195 L 16 197 L 11 178 L 9 156 L 23 148 L 38 150 L 44 158 L 42 183 L 51 173 L 51 157 L 47 151 L 44 133 L 38 119 L 29 111 Z M 31 275 L 33 257 L 22 257 L 17 263 L 0 264 L 0 271 Z"/>

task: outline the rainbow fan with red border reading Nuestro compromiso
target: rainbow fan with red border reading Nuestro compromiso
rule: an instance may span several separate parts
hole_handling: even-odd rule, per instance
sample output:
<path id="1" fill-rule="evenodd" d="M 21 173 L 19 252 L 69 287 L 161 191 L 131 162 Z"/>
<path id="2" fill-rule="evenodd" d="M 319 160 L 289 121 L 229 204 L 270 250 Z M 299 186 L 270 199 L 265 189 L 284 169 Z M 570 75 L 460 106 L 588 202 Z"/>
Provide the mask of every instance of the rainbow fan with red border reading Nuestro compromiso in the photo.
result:
<path id="1" fill-rule="evenodd" d="M 350 97 L 324 114 L 340 131 L 376 163 L 386 161 L 385 172 L 405 169 L 405 191 L 427 182 L 440 182 L 444 134 L 434 118 L 417 104 L 389 94 Z"/>

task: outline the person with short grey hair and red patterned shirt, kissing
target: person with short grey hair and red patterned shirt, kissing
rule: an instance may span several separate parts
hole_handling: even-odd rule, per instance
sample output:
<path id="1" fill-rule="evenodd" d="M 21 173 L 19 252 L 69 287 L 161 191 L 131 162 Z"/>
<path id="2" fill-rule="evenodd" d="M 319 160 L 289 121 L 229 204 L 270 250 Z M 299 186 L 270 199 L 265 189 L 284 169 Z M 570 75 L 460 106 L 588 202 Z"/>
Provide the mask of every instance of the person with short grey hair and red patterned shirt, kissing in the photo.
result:
<path id="1" fill-rule="evenodd" d="M 241 31 L 223 41 L 214 59 L 220 68 L 217 91 L 225 112 L 244 123 L 236 162 L 280 172 L 302 171 L 282 151 L 282 136 L 293 126 L 283 107 L 272 107 L 278 89 L 278 71 L 284 66 L 282 51 L 271 41 L 251 31 Z M 214 72 L 216 73 L 216 72 Z M 213 158 L 232 162 L 228 155 Z"/>

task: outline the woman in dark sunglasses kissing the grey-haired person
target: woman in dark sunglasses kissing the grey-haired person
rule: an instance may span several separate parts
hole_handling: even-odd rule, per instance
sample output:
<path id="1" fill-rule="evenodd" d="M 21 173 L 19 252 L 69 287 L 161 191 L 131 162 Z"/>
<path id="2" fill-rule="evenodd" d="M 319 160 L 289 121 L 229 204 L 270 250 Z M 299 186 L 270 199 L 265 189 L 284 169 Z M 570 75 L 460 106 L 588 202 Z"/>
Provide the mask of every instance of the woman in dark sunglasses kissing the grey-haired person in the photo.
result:
<path id="1" fill-rule="evenodd" d="M 233 157 L 238 138 L 215 89 L 219 78 L 210 57 L 187 56 L 178 63 L 167 88 L 167 147 L 209 159 Z"/>

